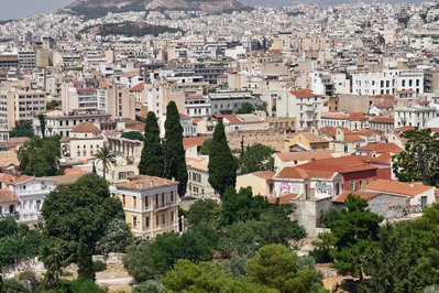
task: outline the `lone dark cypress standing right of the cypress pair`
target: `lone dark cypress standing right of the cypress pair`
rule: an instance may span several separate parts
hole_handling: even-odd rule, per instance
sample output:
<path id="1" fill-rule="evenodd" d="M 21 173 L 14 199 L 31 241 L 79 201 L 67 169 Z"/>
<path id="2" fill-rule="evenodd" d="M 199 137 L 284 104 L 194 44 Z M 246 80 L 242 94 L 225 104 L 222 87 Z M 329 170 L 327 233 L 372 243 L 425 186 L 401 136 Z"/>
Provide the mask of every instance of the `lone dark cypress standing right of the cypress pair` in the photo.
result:
<path id="1" fill-rule="evenodd" d="M 237 184 L 238 164 L 227 143 L 224 124 L 218 121 L 209 152 L 209 183 L 221 198 L 229 186 Z"/>

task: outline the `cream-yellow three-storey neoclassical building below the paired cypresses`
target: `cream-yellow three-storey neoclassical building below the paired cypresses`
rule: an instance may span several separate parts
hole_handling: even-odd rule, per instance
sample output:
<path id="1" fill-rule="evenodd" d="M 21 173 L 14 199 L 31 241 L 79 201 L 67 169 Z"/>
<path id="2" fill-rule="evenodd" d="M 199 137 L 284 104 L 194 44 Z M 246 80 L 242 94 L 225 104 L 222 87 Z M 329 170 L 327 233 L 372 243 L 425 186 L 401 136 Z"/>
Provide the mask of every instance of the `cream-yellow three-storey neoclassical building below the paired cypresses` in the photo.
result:
<path id="1" fill-rule="evenodd" d="M 178 231 L 178 182 L 139 175 L 110 189 L 122 202 L 134 237 L 150 239 Z"/>

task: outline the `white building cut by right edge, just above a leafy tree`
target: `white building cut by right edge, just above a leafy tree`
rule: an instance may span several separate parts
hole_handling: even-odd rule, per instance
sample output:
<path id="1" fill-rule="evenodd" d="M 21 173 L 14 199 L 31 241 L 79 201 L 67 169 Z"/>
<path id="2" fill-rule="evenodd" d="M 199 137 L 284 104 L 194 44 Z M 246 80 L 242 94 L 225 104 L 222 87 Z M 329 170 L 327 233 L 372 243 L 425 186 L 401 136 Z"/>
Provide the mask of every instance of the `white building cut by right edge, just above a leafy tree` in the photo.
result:
<path id="1" fill-rule="evenodd" d="M 397 107 L 394 110 L 395 128 L 411 126 L 417 128 L 427 128 L 428 122 L 436 118 L 436 108 L 413 106 Z"/>

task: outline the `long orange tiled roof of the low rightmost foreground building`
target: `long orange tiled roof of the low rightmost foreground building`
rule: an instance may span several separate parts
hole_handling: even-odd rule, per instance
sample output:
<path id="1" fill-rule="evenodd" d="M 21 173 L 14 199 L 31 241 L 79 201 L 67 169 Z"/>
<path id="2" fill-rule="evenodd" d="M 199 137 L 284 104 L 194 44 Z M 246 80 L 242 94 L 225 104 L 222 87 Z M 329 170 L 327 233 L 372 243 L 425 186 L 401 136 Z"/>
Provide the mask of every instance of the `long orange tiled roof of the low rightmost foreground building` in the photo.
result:
<path id="1" fill-rule="evenodd" d="M 374 182 L 369 183 L 364 189 L 367 191 L 376 191 L 376 192 L 386 192 L 386 193 L 394 193 L 407 196 L 416 196 L 418 194 L 425 193 L 433 186 L 428 186 L 424 184 L 411 184 L 407 182 L 397 182 L 397 181 L 389 181 L 389 180 L 377 180 Z"/>

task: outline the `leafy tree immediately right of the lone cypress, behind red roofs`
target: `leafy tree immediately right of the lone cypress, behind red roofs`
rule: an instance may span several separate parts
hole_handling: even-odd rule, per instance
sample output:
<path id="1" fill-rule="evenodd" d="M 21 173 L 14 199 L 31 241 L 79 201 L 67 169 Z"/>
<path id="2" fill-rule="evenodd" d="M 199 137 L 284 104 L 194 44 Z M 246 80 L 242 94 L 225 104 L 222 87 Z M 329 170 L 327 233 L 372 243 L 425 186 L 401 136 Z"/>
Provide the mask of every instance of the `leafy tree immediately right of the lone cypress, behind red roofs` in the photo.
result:
<path id="1" fill-rule="evenodd" d="M 239 160 L 241 174 L 249 174 L 256 171 L 274 170 L 275 151 L 261 143 L 248 146 Z"/>

